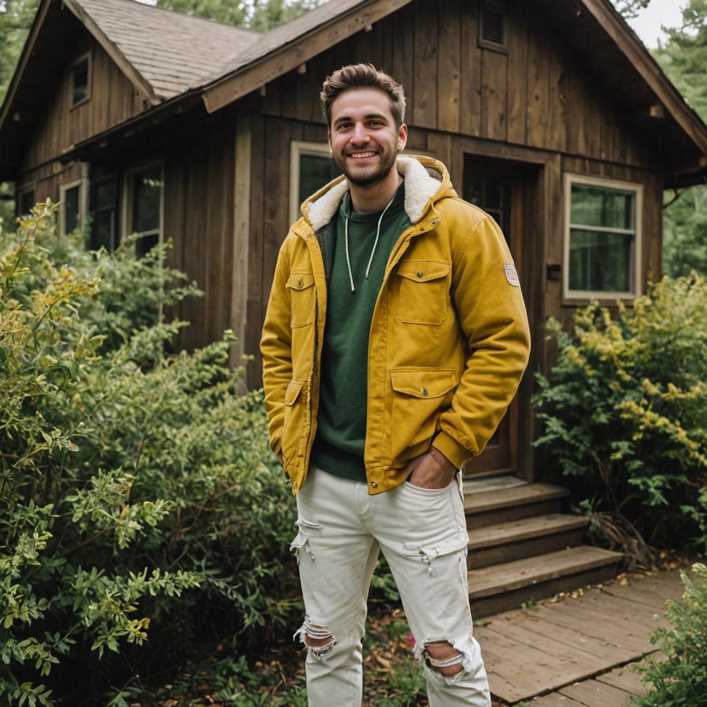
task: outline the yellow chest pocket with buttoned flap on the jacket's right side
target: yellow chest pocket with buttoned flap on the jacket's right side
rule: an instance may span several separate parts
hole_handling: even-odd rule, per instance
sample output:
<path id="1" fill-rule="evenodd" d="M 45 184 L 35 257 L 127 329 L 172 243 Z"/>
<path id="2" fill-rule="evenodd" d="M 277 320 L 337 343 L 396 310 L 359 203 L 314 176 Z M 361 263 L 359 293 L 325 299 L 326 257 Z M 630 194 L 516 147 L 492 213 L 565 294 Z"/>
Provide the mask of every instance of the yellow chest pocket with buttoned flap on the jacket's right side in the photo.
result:
<path id="1" fill-rule="evenodd" d="M 406 324 L 438 326 L 447 318 L 451 264 L 439 260 L 404 260 L 398 264 L 396 316 Z"/>

